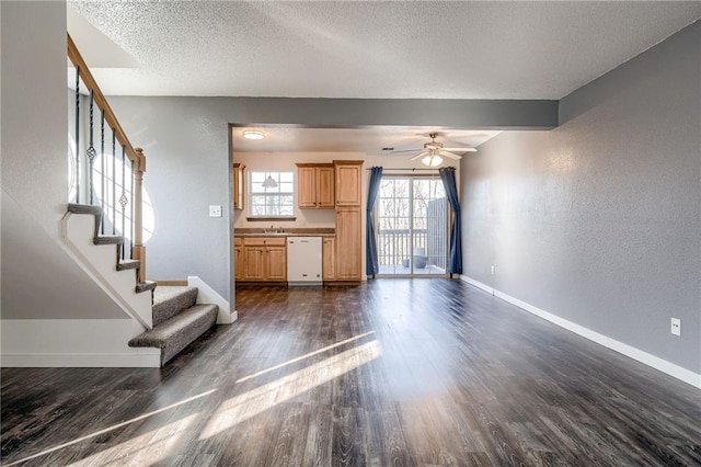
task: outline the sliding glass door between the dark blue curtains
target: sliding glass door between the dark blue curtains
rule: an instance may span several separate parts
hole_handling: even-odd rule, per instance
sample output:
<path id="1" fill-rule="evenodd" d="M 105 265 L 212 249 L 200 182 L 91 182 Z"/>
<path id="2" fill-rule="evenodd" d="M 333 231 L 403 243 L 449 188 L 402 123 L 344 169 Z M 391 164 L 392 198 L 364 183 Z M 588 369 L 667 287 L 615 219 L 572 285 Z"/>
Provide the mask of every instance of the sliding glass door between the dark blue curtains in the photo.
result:
<path id="1" fill-rule="evenodd" d="M 446 275 L 448 204 L 439 176 L 383 175 L 375 218 L 380 276 Z"/>

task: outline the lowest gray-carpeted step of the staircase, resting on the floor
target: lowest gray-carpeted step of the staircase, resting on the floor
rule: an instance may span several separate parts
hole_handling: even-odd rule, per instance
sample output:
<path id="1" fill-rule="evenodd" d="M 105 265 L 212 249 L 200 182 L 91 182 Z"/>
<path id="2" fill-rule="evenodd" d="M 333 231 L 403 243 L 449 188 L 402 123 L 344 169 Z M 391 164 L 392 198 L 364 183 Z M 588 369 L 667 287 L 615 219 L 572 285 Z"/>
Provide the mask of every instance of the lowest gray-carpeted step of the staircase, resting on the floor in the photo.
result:
<path id="1" fill-rule="evenodd" d="M 161 366 L 217 323 L 219 307 L 194 305 L 129 341 L 130 348 L 161 349 Z"/>

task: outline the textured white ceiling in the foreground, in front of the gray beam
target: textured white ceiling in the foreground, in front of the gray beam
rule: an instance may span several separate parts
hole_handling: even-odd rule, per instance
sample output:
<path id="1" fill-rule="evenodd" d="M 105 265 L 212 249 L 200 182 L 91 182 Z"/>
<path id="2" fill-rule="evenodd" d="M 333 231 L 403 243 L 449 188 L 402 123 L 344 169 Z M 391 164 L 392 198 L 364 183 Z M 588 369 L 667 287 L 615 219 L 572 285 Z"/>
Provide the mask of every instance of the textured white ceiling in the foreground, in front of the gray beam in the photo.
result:
<path id="1" fill-rule="evenodd" d="M 560 99 L 701 18 L 669 1 L 69 5 L 136 60 L 94 70 L 133 95 Z"/>

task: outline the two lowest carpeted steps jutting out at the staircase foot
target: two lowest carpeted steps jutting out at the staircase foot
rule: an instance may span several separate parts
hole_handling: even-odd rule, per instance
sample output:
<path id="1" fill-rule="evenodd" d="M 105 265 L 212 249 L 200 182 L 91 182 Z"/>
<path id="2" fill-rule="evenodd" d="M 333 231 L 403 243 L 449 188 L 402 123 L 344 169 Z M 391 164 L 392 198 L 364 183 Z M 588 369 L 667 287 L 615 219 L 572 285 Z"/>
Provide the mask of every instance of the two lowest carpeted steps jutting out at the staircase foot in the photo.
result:
<path id="1" fill-rule="evenodd" d="M 153 291 L 153 328 L 129 341 L 130 348 L 161 350 L 161 366 L 216 324 L 219 307 L 196 304 L 196 287 Z"/>

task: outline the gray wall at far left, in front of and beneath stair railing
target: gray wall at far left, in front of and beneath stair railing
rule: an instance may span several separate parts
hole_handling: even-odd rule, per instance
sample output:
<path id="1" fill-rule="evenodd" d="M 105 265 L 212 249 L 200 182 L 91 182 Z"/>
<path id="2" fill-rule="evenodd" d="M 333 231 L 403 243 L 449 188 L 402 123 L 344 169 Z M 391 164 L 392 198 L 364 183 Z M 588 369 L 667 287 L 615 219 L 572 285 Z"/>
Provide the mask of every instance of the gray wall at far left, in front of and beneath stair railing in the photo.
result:
<path id="1" fill-rule="evenodd" d="M 3 319 L 122 311 L 61 248 L 68 196 L 66 3 L 0 4 Z"/>

